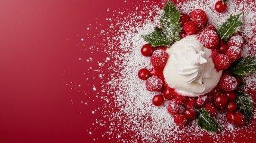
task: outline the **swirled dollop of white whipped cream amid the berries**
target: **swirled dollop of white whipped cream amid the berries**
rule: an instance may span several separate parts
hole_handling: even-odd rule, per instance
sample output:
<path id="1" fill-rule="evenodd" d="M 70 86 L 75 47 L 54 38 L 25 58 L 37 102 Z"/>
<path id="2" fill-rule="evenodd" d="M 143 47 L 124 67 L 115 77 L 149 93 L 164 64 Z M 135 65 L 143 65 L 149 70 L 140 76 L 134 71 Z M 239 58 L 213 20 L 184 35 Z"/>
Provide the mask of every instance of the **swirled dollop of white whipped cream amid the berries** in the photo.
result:
<path id="1" fill-rule="evenodd" d="M 203 47 L 196 35 L 175 42 L 166 50 L 169 54 L 164 69 L 168 86 L 178 94 L 196 97 L 210 92 L 220 80 L 211 58 L 211 49 Z"/>

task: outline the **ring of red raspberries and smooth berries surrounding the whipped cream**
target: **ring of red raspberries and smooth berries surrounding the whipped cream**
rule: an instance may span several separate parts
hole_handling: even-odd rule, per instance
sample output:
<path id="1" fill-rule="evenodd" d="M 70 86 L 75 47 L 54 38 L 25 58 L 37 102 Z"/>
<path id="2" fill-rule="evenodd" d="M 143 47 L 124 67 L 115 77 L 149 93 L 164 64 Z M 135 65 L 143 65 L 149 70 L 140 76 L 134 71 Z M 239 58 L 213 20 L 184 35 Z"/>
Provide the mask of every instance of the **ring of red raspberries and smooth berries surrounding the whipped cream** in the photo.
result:
<path id="1" fill-rule="evenodd" d="M 139 70 L 138 77 L 146 80 L 148 91 L 161 92 L 152 98 L 153 105 L 160 106 L 167 101 L 167 111 L 174 116 L 174 122 L 179 126 L 184 126 L 190 120 L 196 119 L 198 117 L 197 110 L 201 108 L 205 108 L 211 117 L 215 117 L 217 113 L 226 113 L 230 123 L 242 126 L 245 124 L 245 116 L 238 111 L 234 92 L 238 88 L 240 80 L 238 77 L 232 76 L 227 69 L 232 62 L 240 58 L 243 38 L 236 34 L 227 43 L 221 41 L 215 32 L 216 28 L 207 22 L 207 15 L 201 9 L 193 10 L 190 15 L 182 14 L 180 23 L 183 30 L 180 32 L 180 38 L 196 34 L 198 41 L 205 48 L 212 50 L 215 69 L 217 71 L 224 70 L 220 82 L 211 92 L 199 97 L 183 97 L 175 92 L 175 89 L 169 87 L 163 76 L 163 70 L 168 60 L 165 46 L 153 47 L 146 44 L 141 47 L 141 54 L 150 57 L 153 67 L 150 70 Z"/>

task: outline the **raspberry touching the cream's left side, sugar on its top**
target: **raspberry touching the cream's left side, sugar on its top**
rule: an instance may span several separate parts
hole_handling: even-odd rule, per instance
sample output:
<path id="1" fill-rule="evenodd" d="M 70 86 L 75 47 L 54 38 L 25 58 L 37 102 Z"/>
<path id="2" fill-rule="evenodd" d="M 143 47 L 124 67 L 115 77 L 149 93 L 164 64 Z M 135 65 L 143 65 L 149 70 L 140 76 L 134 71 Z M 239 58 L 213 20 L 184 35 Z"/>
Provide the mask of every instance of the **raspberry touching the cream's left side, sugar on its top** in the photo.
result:
<path id="1" fill-rule="evenodd" d="M 163 70 L 167 60 L 168 54 L 162 49 L 157 49 L 156 51 L 154 51 L 150 59 L 152 66 L 156 70 Z"/>

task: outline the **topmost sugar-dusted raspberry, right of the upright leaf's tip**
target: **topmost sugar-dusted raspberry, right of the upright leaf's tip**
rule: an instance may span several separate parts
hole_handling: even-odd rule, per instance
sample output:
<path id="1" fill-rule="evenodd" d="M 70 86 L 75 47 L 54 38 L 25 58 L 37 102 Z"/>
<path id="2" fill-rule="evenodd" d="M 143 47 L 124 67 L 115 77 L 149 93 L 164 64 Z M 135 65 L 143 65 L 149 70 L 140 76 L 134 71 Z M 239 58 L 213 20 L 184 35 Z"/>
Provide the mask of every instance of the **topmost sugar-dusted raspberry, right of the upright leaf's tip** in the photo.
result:
<path id="1" fill-rule="evenodd" d="M 201 9 L 193 10 L 190 14 L 190 19 L 194 21 L 198 26 L 203 26 L 208 21 L 205 11 Z"/>

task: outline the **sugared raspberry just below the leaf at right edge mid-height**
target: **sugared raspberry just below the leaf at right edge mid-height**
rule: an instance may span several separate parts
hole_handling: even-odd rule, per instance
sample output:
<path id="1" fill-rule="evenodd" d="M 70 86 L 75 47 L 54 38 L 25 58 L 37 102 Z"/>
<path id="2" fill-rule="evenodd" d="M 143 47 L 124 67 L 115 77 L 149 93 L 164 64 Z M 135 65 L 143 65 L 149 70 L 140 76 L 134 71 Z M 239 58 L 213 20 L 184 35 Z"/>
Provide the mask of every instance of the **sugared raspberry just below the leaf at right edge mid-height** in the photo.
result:
<path id="1" fill-rule="evenodd" d="M 224 75 L 220 78 L 220 88 L 223 91 L 235 91 L 238 88 L 238 82 L 235 77 Z"/>

